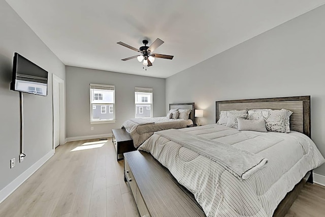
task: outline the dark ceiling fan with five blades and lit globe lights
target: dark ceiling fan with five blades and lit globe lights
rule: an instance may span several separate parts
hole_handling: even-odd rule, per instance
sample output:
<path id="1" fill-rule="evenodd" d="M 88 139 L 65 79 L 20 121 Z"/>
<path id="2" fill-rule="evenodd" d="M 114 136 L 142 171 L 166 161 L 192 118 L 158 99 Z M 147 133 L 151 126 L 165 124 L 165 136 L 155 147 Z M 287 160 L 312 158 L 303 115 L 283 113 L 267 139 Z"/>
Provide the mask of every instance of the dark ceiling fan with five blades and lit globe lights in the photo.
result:
<path id="1" fill-rule="evenodd" d="M 141 53 L 140 55 L 127 57 L 127 58 L 121 59 L 121 60 L 125 61 L 125 60 L 129 60 L 129 59 L 137 58 L 139 62 L 142 62 L 143 66 L 149 67 L 149 66 L 152 66 L 152 63 L 155 58 L 173 59 L 173 57 L 174 57 L 171 55 L 152 53 L 157 47 L 159 47 L 160 45 L 162 45 L 164 43 L 164 41 L 162 41 L 160 39 L 156 39 L 150 45 L 150 47 L 147 46 L 148 40 L 143 40 L 142 43 L 144 44 L 144 46 L 141 46 L 139 49 L 137 49 L 137 48 L 129 46 L 123 42 L 117 42 L 117 44 L 119 44 L 119 45 L 122 45 L 124 47 L 127 47 L 129 49 L 132 49 L 132 50 L 135 50 L 135 51 Z"/>

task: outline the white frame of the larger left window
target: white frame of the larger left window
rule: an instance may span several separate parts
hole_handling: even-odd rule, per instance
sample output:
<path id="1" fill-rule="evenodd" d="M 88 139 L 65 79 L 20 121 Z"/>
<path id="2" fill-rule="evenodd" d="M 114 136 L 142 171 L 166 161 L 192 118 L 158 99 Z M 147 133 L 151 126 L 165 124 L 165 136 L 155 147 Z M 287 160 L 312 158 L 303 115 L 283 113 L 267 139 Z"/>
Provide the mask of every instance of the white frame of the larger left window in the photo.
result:
<path id="1" fill-rule="evenodd" d="M 95 88 L 94 88 L 95 87 Z M 97 88 L 96 88 L 97 87 Z M 114 94 L 113 94 L 113 103 L 101 103 L 101 102 L 96 102 L 96 103 L 92 103 L 92 100 L 95 100 L 94 99 L 94 93 L 93 93 L 93 90 L 92 89 L 102 89 L 105 90 L 105 89 L 109 89 L 109 88 L 112 88 L 111 90 L 114 91 Z M 116 121 L 116 117 L 115 117 L 115 95 L 116 95 L 116 89 L 115 89 L 115 85 L 108 85 L 108 84 L 89 84 L 89 95 L 90 95 L 90 102 L 89 102 L 89 105 L 90 105 L 90 125 L 95 125 L 95 124 L 101 124 L 101 123 L 115 123 Z M 102 95 L 102 96 L 100 96 Z M 102 97 L 102 99 L 100 99 Z M 99 94 L 98 96 L 98 100 L 103 100 L 104 99 L 104 96 L 103 94 Z M 113 106 L 113 119 L 104 119 L 104 120 L 93 120 L 92 117 L 93 117 L 93 105 L 100 105 L 101 106 L 101 114 L 107 114 L 107 106 Z M 106 113 L 102 113 L 102 106 L 106 106 Z"/>

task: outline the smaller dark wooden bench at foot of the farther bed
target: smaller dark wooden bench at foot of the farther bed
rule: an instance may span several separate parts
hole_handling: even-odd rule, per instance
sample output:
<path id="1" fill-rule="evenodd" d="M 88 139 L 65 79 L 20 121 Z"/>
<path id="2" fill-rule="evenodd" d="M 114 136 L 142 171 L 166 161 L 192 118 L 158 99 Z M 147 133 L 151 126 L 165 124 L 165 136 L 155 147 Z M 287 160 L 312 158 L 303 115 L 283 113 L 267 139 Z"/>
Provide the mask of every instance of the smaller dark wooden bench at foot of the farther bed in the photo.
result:
<path id="1" fill-rule="evenodd" d="M 112 141 L 115 146 L 117 161 L 123 159 L 123 153 L 136 150 L 131 136 L 125 129 L 112 129 Z"/>

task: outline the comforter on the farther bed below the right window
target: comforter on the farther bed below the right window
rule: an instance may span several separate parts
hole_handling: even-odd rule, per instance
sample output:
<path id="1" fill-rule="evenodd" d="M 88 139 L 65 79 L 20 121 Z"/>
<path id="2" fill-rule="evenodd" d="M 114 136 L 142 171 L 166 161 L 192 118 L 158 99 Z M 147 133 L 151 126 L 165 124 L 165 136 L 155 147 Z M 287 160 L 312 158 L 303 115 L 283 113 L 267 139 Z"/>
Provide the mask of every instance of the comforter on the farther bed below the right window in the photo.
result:
<path id="1" fill-rule="evenodd" d="M 136 118 L 141 120 L 136 121 L 135 119 L 128 119 L 122 124 L 122 128 L 131 135 L 133 144 L 137 148 L 144 141 L 146 141 L 154 132 L 168 129 L 180 129 L 186 128 L 187 125 L 191 125 L 193 121 L 191 119 L 168 119 L 167 117 L 151 117 L 151 118 Z M 145 123 L 142 120 L 147 120 Z"/>

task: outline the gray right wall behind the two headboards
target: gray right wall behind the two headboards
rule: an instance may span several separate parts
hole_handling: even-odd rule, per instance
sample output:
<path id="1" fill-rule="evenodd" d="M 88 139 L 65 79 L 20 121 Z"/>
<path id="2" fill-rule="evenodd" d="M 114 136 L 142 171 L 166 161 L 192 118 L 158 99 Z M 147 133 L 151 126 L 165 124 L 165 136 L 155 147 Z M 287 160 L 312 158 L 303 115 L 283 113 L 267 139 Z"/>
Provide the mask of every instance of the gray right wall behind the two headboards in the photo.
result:
<path id="1" fill-rule="evenodd" d="M 325 156 L 324 20 L 322 6 L 167 78 L 166 111 L 195 102 L 207 124 L 215 101 L 310 95 L 312 139 Z"/>

